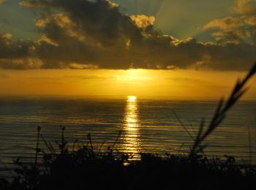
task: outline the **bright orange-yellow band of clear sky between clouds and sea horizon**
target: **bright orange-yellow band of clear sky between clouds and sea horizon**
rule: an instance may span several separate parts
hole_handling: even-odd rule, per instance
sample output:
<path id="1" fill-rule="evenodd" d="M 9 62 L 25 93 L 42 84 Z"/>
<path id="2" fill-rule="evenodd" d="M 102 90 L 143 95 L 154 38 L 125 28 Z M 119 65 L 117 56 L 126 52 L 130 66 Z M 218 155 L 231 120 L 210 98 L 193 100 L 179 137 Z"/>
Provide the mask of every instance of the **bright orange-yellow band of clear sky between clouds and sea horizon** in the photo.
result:
<path id="1" fill-rule="evenodd" d="M 218 99 L 227 96 L 245 72 L 150 69 L 0 70 L 1 94 L 156 96 L 167 99 Z M 244 99 L 255 99 L 256 80 Z"/>

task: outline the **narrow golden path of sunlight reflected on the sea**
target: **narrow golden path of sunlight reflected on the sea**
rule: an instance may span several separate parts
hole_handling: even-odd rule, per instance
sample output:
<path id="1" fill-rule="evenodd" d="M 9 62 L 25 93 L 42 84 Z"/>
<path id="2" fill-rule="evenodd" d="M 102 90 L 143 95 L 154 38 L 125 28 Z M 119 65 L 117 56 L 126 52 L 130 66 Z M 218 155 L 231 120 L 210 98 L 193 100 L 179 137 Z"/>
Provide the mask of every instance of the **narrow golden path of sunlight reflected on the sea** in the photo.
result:
<path id="1" fill-rule="evenodd" d="M 124 115 L 124 152 L 132 154 L 132 159 L 140 156 L 140 119 L 138 115 L 138 102 L 136 96 L 127 97 Z"/>

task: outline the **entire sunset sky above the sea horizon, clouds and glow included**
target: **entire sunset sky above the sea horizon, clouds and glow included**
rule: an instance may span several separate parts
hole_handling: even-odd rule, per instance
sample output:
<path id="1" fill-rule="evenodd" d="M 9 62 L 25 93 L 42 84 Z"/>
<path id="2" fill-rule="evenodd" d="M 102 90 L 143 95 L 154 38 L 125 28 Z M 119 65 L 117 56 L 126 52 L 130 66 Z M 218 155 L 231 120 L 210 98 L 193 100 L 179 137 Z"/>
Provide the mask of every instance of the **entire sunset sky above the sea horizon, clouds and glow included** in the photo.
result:
<path id="1" fill-rule="evenodd" d="M 254 61 L 254 0 L 0 0 L 0 94 L 219 98 Z"/>

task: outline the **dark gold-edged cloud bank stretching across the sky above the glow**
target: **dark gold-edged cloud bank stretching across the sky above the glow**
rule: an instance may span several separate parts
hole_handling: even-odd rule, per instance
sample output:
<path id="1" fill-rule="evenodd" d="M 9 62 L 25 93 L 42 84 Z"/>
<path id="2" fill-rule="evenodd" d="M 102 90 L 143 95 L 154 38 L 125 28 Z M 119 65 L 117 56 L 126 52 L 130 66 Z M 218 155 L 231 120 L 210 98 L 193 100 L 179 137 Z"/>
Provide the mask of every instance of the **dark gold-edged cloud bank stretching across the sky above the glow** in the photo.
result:
<path id="1" fill-rule="evenodd" d="M 216 42 L 176 39 L 154 28 L 154 16 L 125 15 L 108 0 L 23 0 L 40 9 L 37 41 L 0 34 L 2 69 L 244 70 L 255 61 L 256 7 L 236 4 L 237 17 L 212 20 Z"/>

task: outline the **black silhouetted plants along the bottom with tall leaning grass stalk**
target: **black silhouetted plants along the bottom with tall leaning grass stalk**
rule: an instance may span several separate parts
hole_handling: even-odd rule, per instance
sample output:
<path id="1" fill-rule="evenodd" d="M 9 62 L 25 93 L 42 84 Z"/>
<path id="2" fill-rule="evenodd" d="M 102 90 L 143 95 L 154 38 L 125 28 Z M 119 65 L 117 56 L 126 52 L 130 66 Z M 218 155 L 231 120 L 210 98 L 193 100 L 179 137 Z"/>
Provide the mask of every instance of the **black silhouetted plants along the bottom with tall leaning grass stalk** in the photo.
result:
<path id="1" fill-rule="evenodd" d="M 141 153 L 140 160 L 131 161 L 129 155 L 116 151 L 116 142 L 106 149 L 95 148 L 91 134 L 86 144 L 68 143 L 64 127 L 61 142 L 56 142 L 58 148 L 54 148 L 38 127 L 34 163 L 17 159 L 15 176 L 12 180 L 1 179 L 0 189 L 256 189 L 252 165 L 236 164 L 232 156 L 208 159 L 203 153 L 204 140 L 244 94 L 244 85 L 255 72 L 256 64 L 244 80 L 238 80 L 227 102 L 219 102 L 207 128 L 202 121 L 188 155 Z M 39 154 L 42 161 L 38 161 Z"/>

